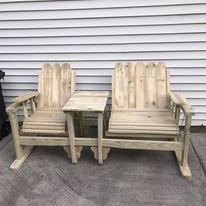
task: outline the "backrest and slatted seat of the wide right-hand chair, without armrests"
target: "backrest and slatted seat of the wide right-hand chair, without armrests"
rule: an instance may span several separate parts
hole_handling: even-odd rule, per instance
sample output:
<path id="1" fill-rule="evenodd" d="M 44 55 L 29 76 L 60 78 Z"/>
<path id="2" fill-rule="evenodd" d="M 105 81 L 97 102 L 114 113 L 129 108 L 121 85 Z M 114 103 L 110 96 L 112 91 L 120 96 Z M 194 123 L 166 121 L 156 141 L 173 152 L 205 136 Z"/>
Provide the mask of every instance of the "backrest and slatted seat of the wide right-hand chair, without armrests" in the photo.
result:
<path id="1" fill-rule="evenodd" d="M 165 64 L 117 64 L 113 75 L 113 109 L 108 134 L 178 135 L 169 109 Z"/>

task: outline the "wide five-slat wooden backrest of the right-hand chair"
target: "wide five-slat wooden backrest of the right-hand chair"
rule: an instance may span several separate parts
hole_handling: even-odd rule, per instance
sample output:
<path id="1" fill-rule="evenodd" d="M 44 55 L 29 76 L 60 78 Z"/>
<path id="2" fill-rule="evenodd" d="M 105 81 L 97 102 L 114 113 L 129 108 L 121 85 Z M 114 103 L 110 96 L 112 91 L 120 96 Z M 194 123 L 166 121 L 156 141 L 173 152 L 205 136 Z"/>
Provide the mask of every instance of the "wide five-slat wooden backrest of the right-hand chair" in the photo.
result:
<path id="1" fill-rule="evenodd" d="M 165 108 L 169 86 L 164 62 L 117 63 L 112 76 L 112 108 Z"/>

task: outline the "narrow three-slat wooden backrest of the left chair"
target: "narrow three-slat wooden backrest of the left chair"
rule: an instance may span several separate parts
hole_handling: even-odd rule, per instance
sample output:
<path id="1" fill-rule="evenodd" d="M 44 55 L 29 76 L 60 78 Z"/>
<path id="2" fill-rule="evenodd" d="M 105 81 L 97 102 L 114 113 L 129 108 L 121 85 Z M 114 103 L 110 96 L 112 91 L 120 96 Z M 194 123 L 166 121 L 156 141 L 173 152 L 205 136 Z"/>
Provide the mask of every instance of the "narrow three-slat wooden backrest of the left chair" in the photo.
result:
<path id="1" fill-rule="evenodd" d="M 69 64 L 44 64 L 39 73 L 38 107 L 62 108 L 74 92 L 74 87 L 75 74 Z"/>

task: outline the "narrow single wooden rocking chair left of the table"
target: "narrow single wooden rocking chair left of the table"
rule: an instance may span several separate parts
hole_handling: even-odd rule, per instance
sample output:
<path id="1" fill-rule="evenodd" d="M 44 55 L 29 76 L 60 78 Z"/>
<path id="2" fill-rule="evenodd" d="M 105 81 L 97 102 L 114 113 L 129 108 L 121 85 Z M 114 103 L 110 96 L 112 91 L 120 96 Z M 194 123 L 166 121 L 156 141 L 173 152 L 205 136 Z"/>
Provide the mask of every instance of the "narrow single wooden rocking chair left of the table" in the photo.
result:
<path id="1" fill-rule="evenodd" d="M 18 169 L 35 145 L 65 146 L 70 156 L 66 117 L 62 107 L 74 92 L 74 87 L 75 74 L 69 64 L 45 64 L 39 73 L 38 92 L 13 99 L 7 108 L 17 157 L 11 169 Z M 22 108 L 24 121 L 20 128 L 17 111 Z M 81 152 L 81 148 L 78 149 Z"/>

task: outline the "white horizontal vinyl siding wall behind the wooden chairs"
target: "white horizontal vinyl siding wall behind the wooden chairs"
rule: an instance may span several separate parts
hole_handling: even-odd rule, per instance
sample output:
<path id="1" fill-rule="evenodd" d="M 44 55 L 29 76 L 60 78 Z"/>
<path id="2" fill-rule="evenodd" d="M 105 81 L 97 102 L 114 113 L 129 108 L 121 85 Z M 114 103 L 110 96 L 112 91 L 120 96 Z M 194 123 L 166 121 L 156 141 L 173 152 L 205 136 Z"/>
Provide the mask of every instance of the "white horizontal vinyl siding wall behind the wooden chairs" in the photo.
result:
<path id="1" fill-rule="evenodd" d="M 78 90 L 110 90 L 117 61 L 165 61 L 206 125 L 206 0 L 1 1 L 0 53 L 7 104 L 45 62 L 69 62 Z"/>

